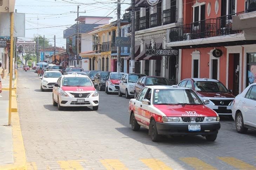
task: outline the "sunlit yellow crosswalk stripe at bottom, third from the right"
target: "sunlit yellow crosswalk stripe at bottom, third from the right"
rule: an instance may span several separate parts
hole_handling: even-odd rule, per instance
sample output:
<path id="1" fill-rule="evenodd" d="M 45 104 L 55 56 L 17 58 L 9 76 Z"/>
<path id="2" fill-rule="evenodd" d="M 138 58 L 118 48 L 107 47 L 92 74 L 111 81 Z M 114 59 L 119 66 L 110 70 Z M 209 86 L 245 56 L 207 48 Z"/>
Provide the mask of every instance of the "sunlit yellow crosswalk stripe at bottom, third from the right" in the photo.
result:
<path id="1" fill-rule="evenodd" d="M 141 159 L 141 162 L 152 170 L 172 170 L 172 168 L 168 167 L 165 163 L 157 159 Z"/>

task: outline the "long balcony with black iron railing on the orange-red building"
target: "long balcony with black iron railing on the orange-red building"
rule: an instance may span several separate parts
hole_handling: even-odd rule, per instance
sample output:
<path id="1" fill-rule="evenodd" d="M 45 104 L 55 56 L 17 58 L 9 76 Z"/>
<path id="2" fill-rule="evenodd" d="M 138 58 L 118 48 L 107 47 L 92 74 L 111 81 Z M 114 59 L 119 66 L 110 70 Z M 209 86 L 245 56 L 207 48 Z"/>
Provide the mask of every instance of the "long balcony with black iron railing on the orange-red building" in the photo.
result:
<path id="1" fill-rule="evenodd" d="M 207 19 L 171 28 L 170 42 L 241 33 L 242 30 L 232 29 L 232 16 L 239 14 L 225 15 L 217 19 Z"/>

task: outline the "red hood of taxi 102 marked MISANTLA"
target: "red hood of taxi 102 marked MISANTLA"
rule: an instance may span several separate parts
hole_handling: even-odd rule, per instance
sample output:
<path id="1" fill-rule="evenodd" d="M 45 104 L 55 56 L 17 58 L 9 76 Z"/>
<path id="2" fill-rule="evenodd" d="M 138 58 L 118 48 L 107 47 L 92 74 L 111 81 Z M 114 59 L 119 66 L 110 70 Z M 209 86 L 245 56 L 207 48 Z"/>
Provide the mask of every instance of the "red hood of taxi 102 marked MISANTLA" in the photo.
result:
<path id="1" fill-rule="evenodd" d="M 216 112 L 205 105 L 154 105 L 167 117 L 207 117 L 217 116 Z"/>

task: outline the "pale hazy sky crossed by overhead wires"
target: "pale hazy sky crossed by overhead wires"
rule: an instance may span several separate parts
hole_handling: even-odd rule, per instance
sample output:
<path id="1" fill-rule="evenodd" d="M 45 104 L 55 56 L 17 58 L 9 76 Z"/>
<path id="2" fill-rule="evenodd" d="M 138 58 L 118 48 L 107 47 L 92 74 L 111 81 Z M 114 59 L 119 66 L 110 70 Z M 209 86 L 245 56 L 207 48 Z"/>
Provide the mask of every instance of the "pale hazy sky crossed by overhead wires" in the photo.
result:
<path id="1" fill-rule="evenodd" d="M 26 13 L 26 37 L 24 40 L 33 40 L 38 34 L 49 40 L 54 45 L 54 35 L 56 36 L 56 46 L 66 48 L 66 39 L 63 39 L 63 31 L 75 24 L 79 5 L 80 16 L 111 16 L 114 21 L 117 19 L 117 0 L 16 0 L 15 9 L 17 13 Z M 121 0 L 130 3 L 130 0 Z M 121 5 L 121 14 L 129 5 Z M 114 10 L 114 12 L 113 12 Z M 122 18 L 122 16 L 121 16 Z M 65 26 L 63 26 L 65 25 Z M 56 27 L 58 26 L 58 27 Z M 52 28 L 44 28 L 52 27 Z M 40 28 L 40 29 L 38 29 Z"/>

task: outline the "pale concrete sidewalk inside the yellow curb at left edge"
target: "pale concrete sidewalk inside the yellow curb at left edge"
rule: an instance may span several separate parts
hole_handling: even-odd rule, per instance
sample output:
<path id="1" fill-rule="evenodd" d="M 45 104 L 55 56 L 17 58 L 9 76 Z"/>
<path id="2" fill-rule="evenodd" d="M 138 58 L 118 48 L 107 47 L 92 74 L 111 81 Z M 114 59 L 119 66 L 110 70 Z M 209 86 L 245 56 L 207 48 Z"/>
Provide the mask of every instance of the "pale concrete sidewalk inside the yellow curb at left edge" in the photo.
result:
<path id="1" fill-rule="evenodd" d="M 9 91 L 0 94 L 0 166 L 14 163 L 12 126 L 8 125 Z"/>

